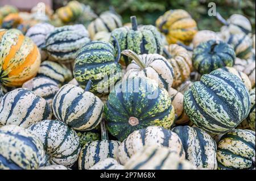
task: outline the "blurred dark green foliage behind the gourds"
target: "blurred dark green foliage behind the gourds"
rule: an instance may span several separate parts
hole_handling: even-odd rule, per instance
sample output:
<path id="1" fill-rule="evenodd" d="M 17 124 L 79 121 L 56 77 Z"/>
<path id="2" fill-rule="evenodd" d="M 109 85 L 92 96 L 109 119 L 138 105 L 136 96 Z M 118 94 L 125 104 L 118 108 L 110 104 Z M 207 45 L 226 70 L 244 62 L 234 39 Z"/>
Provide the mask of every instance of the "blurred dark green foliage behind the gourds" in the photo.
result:
<path id="1" fill-rule="evenodd" d="M 136 15 L 141 24 L 155 24 L 155 20 L 170 9 L 187 10 L 197 21 L 200 30 L 219 31 L 222 24 L 214 16 L 208 16 L 208 3 L 216 3 L 217 11 L 224 18 L 232 14 L 243 14 L 250 19 L 255 32 L 254 0 L 78 0 L 90 5 L 97 13 L 114 6 L 115 11 L 127 23 L 131 15 Z"/>

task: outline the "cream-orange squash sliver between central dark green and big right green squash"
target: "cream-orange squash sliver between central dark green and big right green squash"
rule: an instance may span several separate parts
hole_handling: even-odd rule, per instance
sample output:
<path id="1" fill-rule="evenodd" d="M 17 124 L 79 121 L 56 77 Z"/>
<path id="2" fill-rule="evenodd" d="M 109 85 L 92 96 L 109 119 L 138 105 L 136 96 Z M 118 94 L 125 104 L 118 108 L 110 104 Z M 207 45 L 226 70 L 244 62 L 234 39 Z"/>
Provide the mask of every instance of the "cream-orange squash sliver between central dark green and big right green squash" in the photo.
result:
<path id="1" fill-rule="evenodd" d="M 185 113 L 184 106 L 183 106 L 183 99 L 184 96 L 181 92 L 177 91 L 176 89 L 171 88 L 168 91 L 168 94 L 172 100 L 172 106 L 174 106 L 176 121 L 175 124 L 184 124 L 189 121 L 188 116 Z"/>

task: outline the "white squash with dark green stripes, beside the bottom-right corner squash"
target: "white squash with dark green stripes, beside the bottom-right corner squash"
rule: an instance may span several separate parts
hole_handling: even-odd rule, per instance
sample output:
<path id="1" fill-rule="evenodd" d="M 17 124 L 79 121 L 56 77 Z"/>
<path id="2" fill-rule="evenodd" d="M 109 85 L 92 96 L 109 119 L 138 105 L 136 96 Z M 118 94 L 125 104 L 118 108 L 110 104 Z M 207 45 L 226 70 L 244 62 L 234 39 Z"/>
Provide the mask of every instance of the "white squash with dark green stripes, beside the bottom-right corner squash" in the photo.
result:
<path id="1" fill-rule="evenodd" d="M 217 145 L 210 135 L 200 128 L 179 126 L 172 129 L 180 137 L 186 159 L 197 169 L 217 169 Z"/>

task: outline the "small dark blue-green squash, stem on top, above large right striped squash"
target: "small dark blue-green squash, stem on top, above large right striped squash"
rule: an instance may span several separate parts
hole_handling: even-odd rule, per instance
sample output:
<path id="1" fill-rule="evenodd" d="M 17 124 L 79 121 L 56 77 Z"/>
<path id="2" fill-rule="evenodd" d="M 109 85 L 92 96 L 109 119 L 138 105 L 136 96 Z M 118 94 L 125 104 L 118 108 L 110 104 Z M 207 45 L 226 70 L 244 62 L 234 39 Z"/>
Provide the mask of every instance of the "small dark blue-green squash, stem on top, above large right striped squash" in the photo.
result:
<path id="1" fill-rule="evenodd" d="M 224 66 L 232 67 L 236 53 L 234 49 L 227 43 L 215 40 L 199 44 L 193 50 L 193 67 L 200 74 L 208 74 L 213 70 Z"/>

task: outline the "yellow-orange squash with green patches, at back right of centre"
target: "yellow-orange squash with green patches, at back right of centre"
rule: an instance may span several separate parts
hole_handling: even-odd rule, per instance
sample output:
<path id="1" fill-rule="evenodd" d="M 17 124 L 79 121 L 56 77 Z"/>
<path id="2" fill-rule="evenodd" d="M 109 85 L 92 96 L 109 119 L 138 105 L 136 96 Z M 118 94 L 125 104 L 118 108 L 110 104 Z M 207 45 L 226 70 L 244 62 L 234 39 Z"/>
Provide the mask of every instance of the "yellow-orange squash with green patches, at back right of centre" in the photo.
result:
<path id="1" fill-rule="evenodd" d="M 164 33 L 169 44 L 188 45 L 197 32 L 197 24 L 185 10 L 170 10 L 156 20 L 156 27 Z"/>

